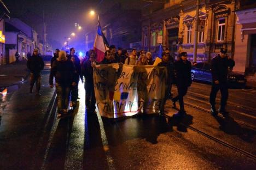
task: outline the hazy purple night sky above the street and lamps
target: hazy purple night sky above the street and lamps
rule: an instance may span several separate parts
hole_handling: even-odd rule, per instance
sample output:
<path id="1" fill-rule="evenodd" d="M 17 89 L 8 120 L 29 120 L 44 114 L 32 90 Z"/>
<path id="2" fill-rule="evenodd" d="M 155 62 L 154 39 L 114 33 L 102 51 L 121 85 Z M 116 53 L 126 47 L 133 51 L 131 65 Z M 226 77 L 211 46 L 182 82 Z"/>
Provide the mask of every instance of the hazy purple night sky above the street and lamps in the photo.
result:
<path id="1" fill-rule="evenodd" d="M 96 17 L 91 19 L 88 15 L 91 9 L 101 15 L 115 3 L 121 3 L 126 9 L 141 9 L 148 4 L 139 0 L 3 0 L 3 2 L 10 10 L 11 17 L 26 18 L 27 11 L 30 10 L 30 15 L 43 19 L 44 10 L 47 40 L 53 48 L 63 46 L 64 37 L 69 37 L 71 32 L 75 31 L 74 23 L 82 26 L 95 25 L 96 28 Z M 78 33 L 78 37 L 83 37 L 83 34 Z M 75 46 L 72 43 L 71 40 L 70 45 Z"/>

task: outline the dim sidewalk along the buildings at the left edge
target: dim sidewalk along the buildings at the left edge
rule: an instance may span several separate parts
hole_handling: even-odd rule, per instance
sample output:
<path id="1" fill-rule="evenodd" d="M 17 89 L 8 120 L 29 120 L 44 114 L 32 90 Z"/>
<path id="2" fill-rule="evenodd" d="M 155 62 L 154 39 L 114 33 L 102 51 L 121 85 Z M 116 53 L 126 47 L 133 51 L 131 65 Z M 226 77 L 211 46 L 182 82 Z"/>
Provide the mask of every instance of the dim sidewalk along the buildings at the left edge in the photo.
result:
<path id="1" fill-rule="evenodd" d="M 29 75 L 27 60 L 19 63 L 0 65 L 0 88 L 10 86 L 26 79 Z"/>

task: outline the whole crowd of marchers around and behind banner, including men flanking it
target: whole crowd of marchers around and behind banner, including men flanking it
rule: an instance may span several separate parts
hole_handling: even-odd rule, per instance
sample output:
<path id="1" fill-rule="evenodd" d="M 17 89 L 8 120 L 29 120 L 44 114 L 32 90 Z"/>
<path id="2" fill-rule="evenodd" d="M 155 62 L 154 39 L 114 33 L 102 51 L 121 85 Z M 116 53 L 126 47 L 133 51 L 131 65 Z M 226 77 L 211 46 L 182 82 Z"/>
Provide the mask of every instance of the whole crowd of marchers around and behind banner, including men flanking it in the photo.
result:
<path id="1" fill-rule="evenodd" d="M 183 117 L 186 112 L 184 109 L 183 97 L 187 93 L 188 87 L 191 85 L 191 63 L 188 61 L 187 52 L 181 52 L 177 60 L 170 54 L 168 48 L 162 52 L 161 62 L 155 64 L 164 66 L 167 70 L 165 96 L 161 102 L 160 114 L 165 113 L 164 106 L 167 99 L 172 100 L 173 107 L 176 107 L 176 102 L 179 101 L 179 112 L 174 116 Z M 57 114 L 58 118 L 65 117 L 68 114 L 69 107 L 76 107 L 78 98 L 78 83 L 79 80 L 84 83 L 85 88 L 85 105 L 89 114 L 95 114 L 96 99 L 94 93 L 93 69 L 96 64 L 112 64 L 119 63 L 121 65 L 153 65 L 152 53 L 144 50 L 137 51 L 133 48 L 130 54 L 126 49 L 118 48 L 114 45 L 109 46 L 109 50 L 104 53 L 102 61 L 97 62 L 97 55 L 94 50 L 86 52 L 83 59 L 79 59 L 75 55 L 75 48 L 71 48 L 69 53 L 56 49 L 54 57 L 51 59 L 51 71 L 49 84 L 54 88 L 53 78 L 55 77 L 55 86 L 57 93 Z M 226 116 L 225 111 L 226 101 L 228 100 L 228 87 L 226 86 L 226 72 L 229 68 L 234 67 L 234 60 L 226 56 L 226 49 L 222 48 L 220 54 L 212 60 L 212 92 L 210 96 L 211 113 L 216 116 L 215 108 L 216 93 L 220 89 L 222 93 L 222 101 L 220 113 Z M 30 93 L 32 93 L 33 85 L 36 82 L 36 92 L 40 95 L 40 71 L 44 68 L 42 57 L 38 55 L 38 50 L 33 51 L 33 55 L 27 61 L 27 67 L 31 71 L 30 77 Z M 85 78 L 85 80 L 84 80 Z M 178 94 L 172 98 L 171 88 L 175 81 Z M 144 111 L 143 111 L 144 112 Z"/>

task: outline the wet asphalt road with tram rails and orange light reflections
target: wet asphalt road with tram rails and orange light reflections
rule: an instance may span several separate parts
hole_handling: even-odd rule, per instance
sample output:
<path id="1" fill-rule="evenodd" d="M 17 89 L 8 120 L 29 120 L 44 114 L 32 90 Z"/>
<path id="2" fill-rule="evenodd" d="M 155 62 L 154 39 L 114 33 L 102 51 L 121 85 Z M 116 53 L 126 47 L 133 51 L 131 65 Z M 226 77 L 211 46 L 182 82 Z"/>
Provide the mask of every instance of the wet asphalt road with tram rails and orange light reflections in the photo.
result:
<path id="1" fill-rule="evenodd" d="M 56 119 L 54 90 L 43 71 L 42 96 L 28 83 L 0 100 L 0 169 L 255 169 L 254 89 L 231 89 L 230 117 L 208 112 L 210 84 L 194 82 L 185 96 L 187 116 L 167 101 L 166 116 L 106 119 L 79 107 Z M 173 87 L 173 93 L 176 88 Z"/>

